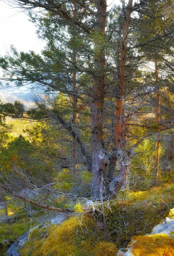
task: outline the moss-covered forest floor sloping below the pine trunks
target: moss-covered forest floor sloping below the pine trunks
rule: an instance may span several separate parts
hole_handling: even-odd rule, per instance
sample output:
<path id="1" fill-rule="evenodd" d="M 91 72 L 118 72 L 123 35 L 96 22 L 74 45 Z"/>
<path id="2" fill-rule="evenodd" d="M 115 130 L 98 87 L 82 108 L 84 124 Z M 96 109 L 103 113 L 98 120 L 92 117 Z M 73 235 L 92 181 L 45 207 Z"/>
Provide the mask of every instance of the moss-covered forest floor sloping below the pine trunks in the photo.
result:
<path id="1" fill-rule="evenodd" d="M 150 234 L 166 216 L 173 218 L 173 208 L 174 185 L 170 183 L 149 191 L 120 192 L 116 200 L 104 202 L 97 211 L 76 213 L 61 225 L 48 222 L 55 218 L 53 212 L 33 210 L 29 216 L 22 207 L 9 205 L 10 221 L 0 224 L 0 255 L 32 230 L 21 256 L 115 256 L 134 236 Z M 41 222 L 46 225 L 39 227 Z"/>

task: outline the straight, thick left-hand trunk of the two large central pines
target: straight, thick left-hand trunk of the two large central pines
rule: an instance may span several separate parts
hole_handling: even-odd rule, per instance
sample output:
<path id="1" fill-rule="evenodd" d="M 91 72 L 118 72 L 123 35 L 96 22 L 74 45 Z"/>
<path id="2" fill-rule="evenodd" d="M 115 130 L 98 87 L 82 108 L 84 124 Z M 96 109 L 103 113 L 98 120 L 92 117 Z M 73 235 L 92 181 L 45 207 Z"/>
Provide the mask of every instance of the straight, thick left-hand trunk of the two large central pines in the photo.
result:
<path id="1" fill-rule="evenodd" d="M 104 106 L 104 64 L 106 0 L 96 0 L 96 26 L 94 32 L 93 104 L 91 107 L 92 140 L 92 198 L 103 200 L 105 196 L 106 154 L 103 146 L 103 106 Z"/>

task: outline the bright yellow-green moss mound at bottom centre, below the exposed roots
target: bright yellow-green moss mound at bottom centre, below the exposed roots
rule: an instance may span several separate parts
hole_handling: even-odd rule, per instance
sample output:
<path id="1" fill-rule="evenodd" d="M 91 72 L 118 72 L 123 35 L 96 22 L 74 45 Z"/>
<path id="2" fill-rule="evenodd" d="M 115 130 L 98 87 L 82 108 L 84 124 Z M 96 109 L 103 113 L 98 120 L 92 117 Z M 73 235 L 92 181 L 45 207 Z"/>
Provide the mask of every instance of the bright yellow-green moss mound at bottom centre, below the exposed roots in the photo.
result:
<path id="1" fill-rule="evenodd" d="M 21 256 L 115 256 L 116 245 L 99 242 L 96 224 L 90 218 L 71 217 L 62 224 L 50 225 L 41 234 L 33 230 Z"/>

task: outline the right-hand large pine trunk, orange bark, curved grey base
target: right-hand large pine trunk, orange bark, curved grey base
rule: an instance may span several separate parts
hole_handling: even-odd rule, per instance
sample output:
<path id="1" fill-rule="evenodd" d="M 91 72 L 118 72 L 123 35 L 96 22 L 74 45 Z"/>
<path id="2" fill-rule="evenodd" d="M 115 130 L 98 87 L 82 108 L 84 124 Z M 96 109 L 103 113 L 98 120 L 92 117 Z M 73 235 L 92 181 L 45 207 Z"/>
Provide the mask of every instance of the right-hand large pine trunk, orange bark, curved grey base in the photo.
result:
<path id="1" fill-rule="evenodd" d="M 117 157 L 110 159 L 108 175 L 113 175 L 110 182 L 110 192 L 117 194 L 126 180 L 128 174 L 128 166 L 130 165 L 131 151 L 125 148 L 125 64 L 127 56 L 129 24 L 131 20 L 132 2 L 129 0 L 127 11 L 125 13 L 125 21 L 120 29 L 119 40 L 117 44 L 117 69 L 118 69 L 118 93 L 116 103 L 116 120 L 115 120 L 115 151 Z M 114 178 L 114 164 L 119 165 L 119 174 Z"/>

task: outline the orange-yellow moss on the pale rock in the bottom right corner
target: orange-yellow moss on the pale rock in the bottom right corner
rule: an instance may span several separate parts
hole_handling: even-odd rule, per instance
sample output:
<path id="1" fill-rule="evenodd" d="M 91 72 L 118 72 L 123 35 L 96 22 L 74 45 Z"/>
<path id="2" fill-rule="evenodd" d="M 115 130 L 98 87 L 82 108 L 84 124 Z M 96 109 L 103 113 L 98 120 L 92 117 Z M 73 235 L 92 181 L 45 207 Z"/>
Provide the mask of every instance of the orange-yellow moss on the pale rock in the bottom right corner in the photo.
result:
<path id="1" fill-rule="evenodd" d="M 174 239 L 166 234 L 136 236 L 133 238 L 133 256 L 173 256 Z"/>

